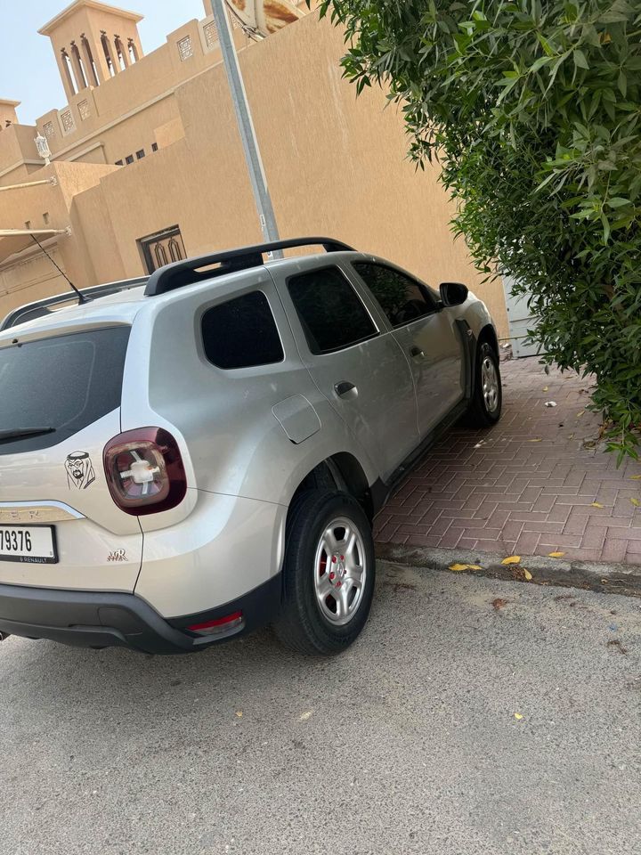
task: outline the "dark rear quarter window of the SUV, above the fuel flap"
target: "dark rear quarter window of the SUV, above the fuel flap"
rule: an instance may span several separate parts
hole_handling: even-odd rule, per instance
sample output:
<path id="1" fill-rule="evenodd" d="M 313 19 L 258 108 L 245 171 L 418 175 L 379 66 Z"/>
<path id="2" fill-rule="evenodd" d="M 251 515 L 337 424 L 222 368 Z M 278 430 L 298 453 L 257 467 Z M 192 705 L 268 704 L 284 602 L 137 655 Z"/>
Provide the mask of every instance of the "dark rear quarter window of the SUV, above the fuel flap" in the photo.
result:
<path id="1" fill-rule="evenodd" d="M 248 368 L 285 358 L 272 309 L 260 291 L 209 309 L 202 335 L 205 355 L 218 368 Z"/>

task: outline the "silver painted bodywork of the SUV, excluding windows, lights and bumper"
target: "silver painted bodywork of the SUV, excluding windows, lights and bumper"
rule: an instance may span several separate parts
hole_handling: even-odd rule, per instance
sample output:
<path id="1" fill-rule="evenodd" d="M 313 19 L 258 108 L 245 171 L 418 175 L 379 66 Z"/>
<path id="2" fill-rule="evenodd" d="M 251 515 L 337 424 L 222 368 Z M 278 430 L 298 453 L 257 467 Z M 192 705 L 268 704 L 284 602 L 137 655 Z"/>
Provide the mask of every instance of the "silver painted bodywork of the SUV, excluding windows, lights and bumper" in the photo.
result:
<path id="1" fill-rule="evenodd" d="M 459 329 L 491 325 L 473 295 L 393 330 L 354 273 L 351 252 L 299 256 L 201 281 L 158 297 L 130 289 L 0 332 L 16 340 L 110 326 L 131 327 L 120 407 L 62 443 L 0 453 L 0 524 L 42 513 L 55 525 L 57 564 L 0 562 L 0 585 L 134 592 L 160 615 L 191 615 L 247 594 L 280 573 L 288 506 L 323 461 L 347 457 L 372 486 L 389 482 L 434 426 L 463 403 L 469 365 Z M 289 297 L 288 277 L 339 265 L 377 336 L 314 355 Z M 248 292 L 266 297 L 284 358 L 223 370 L 207 361 L 201 320 Z M 424 357 L 414 360 L 418 346 Z M 353 383 L 357 395 L 336 386 Z M 187 493 L 174 509 L 134 517 L 112 501 L 104 446 L 135 428 L 166 428 L 183 455 Z M 93 461 L 87 489 L 69 487 L 65 460 Z M 2 449 L 0 448 L 0 452 Z M 12 517 L 16 520 L 16 516 Z"/>

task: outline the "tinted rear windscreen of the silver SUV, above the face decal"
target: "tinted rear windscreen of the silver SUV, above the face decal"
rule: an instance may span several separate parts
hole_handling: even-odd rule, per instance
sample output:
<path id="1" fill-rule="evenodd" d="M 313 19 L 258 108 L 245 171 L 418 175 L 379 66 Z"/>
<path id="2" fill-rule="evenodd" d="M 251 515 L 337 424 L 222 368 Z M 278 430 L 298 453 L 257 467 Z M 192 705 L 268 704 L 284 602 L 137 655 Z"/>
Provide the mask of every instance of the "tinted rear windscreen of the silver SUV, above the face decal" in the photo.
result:
<path id="1" fill-rule="evenodd" d="M 120 406 L 129 327 L 0 348 L 0 454 L 49 448 Z M 4 431 L 53 428 L 41 436 Z"/>

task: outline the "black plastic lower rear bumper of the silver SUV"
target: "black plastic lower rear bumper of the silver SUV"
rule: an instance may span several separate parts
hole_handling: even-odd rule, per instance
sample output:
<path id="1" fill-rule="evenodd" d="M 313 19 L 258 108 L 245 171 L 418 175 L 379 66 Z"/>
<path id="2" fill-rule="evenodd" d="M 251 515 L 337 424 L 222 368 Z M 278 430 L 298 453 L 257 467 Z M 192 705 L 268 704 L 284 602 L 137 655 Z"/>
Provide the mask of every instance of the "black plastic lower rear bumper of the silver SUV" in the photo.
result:
<path id="1" fill-rule="evenodd" d="M 0 631 L 76 647 L 129 647 L 143 653 L 191 653 L 270 623 L 280 608 L 281 579 L 274 576 L 223 606 L 166 619 L 135 594 L 0 585 Z M 240 611 L 243 623 L 215 637 L 187 630 Z"/>

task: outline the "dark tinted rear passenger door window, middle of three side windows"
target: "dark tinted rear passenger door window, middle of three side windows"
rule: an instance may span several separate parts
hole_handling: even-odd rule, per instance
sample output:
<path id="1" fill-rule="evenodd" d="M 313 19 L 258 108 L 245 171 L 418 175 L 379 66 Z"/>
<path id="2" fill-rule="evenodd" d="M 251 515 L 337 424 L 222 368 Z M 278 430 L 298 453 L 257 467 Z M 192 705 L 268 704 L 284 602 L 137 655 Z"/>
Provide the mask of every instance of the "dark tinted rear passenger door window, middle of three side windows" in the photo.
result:
<path id="1" fill-rule="evenodd" d="M 337 267 L 292 276 L 288 289 L 312 354 L 327 354 L 377 335 L 360 297 Z"/>

